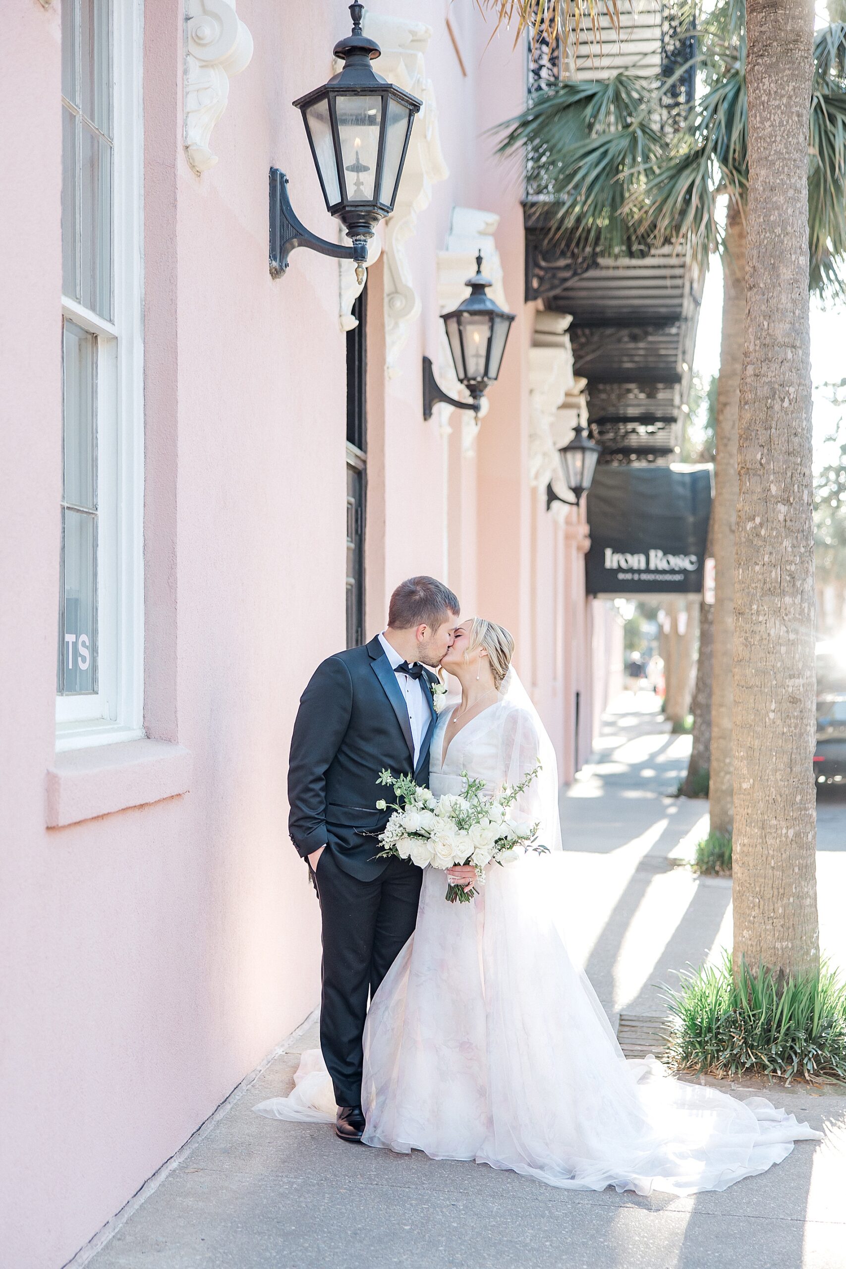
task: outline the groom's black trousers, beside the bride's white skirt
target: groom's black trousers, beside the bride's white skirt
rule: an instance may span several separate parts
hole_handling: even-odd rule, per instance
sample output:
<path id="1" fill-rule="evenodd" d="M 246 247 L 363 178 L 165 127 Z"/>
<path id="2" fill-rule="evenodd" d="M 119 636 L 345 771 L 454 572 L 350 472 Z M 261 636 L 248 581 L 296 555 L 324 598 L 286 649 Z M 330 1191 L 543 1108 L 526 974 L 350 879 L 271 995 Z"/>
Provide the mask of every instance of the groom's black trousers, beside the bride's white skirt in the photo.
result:
<path id="1" fill-rule="evenodd" d="M 323 925 L 320 1047 L 339 1107 L 356 1107 L 368 995 L 375 995 L 413 934 L 422 871 L 405 859 L 388 859 L 377 878 L 359 881 L 339 867 L 327 848 L 315 877 Z"/>

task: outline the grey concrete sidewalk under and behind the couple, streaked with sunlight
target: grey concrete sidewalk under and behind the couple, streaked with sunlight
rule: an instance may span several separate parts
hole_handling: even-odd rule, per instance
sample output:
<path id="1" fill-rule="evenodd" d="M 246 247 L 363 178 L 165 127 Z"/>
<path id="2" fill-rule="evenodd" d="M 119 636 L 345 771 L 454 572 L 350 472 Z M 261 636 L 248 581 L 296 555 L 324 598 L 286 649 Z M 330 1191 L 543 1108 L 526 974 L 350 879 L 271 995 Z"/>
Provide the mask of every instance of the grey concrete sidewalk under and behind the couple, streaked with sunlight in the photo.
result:
<path id="1" fill-rule="evenodd" d="M 562 799 L 573 952 L 611 1015 L 654 1014 L 660 983 L 731 942 L 731 882 L 685 858 L 705 803 L 672 794 L 690 741 L 651 693 L 624 697 L 594 761 Z M 846 806 L 827 803 L 823 944 L 842 950 Z M 827 830 L 828 831 L 828 830 Z M 837 846 L 837 843 L 841 843 Z M 823 869 L 824 871 L 824 869 Z M 836 890 L 837 893 L 831 891 Z M 846 963 L 846 959 L 841 963 Z M 764 1176 L 690 1199 L 562 1192 L 474 1164 L 396 1156 L 323 1126 L 261 1118 L 292 1085 L 312 1025 L 169 1173 L 94 1269 L 842 1269 L 846 1098 L 774 1089 L 826 1141 Z"/>

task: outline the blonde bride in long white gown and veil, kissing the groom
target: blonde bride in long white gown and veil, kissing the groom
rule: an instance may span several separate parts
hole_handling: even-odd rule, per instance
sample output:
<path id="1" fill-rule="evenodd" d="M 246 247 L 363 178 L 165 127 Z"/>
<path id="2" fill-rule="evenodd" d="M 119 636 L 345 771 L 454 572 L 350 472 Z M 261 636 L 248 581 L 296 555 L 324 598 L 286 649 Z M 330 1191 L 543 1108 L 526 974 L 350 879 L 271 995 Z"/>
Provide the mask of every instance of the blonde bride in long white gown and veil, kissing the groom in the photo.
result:
<path id="1" fill-rule="evenodd" d="M 467 772 L 493 792 L 540 761 L 517 810 L 550 855 L 488 865 L 469 904 L 444 895 L 446 879 L 472 888 L 472 868 L 425 869 L 415 934 L 368 1014 L 363 1140 L 572 1189 L 726 1189 L 821 1134 L 765 1098 L 739 1101 L 671 1079 L 652 1057 L 623 1056 L 567 952 L 556 756 L 512 652 L 492 622 L 457 628 L 443 667 L 462 699 L 438 720 L 430 787 L 436 797 L 460 792 Z M 303 1056 L 290 1098 L 256 1110 L 334 1121 L 320 1055 Z"/>

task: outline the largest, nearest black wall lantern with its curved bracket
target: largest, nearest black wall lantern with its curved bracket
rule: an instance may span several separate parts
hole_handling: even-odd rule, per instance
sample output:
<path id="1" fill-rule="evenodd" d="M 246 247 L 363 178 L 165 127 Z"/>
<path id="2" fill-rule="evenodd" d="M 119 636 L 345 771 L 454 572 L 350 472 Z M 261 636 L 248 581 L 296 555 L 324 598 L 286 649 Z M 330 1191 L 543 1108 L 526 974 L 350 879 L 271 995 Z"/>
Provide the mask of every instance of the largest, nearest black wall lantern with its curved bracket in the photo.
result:
<path id="1" fill-rule="evenodd" d="M 298 220 L 288 198 L 288 178 L 270 169 L 270 273 L 282 277 L 298 246 L 355 261 L 364 282 L 368 242 L 374 226 L 389 216 L 402 176 L 411 126 L 421 102 L 388 84 L 370 66 L 381 56 L 361 34 L 364 6 L 350 5 L 353 34 L 335 44 L 344 70 L 327 84 L 298 98 L 326 209 L 346 226 L 351 246 L 317 237 Z"/>

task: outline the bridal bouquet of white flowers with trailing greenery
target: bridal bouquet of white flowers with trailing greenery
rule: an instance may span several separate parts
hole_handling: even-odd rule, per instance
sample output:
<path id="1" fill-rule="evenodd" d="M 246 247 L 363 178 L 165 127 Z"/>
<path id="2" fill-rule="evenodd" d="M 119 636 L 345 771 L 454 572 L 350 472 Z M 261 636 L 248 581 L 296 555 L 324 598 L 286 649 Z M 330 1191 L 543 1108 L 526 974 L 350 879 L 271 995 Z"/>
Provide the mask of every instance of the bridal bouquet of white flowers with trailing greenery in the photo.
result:
<path id="1" fill-rule="evenodd" d="M 378 783 L 389 784 L 397 801 L 377 802 L 379 811 L 387 811 L 388 806 L 393 810 L 379 835 L 379 857 L 397 855 L 411 859 L 419 868 L 431 864 L 444 872 L 472 864 L 483 882 L 487 864 L 511 863 L 517 858 L 519 846 L 544 853 L 547 846 L 535 841 L 538 825 L 521 824 L 511 813 L 517 797 L 539 770 L 540 766 L 535 766 L 520 784 L 505 786 L 496 797 L 486 796 L 485 780 L 473 780 L 462 772 L 462 792 L 443 793 L 439 798 L 415 784 L 411 775 L 382 772 Z M 463 886 L 446 887 L 450 904 L 469 904 L 477 893 L 476 887 L 469 891 Z"/>

